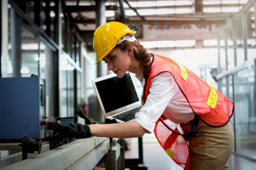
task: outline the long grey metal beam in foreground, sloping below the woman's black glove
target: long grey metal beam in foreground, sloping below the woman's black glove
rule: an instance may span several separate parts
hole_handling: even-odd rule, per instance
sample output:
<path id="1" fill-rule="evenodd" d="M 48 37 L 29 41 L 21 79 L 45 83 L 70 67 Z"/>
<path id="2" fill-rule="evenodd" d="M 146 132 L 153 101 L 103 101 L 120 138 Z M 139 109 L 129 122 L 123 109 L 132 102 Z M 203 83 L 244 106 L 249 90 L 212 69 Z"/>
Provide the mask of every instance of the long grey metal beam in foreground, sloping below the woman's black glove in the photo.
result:
<path id="1" fill-rule="evenodd" d="M 101 143 L 103 144 L 101 145 Z M 95 151 L 93 149 L 97 146 L 106 152 L 106 149 L 108 150 L 110 147 L 109 138 L 91 137 L 87 139 L 79 139 L 34 156 L 32 159 L 26 159 L 16 164 L 12 164 L 3 168 L 3 170 L 35 170 L 35 168 L 37 170 L 64 170 L 70 166 L 75 166 L 77 168 L 79 164 L 83 163 L 81 160 L 84 156 L 88 153 L 93 153 Z M 100 153 L 103 154 L 104 152 Z M 93 156 L 89 156 L 89 161 L 95 162 L 94 159 Z M 84 168 L 86 169 L 86 166 L 84 166 Z"/>

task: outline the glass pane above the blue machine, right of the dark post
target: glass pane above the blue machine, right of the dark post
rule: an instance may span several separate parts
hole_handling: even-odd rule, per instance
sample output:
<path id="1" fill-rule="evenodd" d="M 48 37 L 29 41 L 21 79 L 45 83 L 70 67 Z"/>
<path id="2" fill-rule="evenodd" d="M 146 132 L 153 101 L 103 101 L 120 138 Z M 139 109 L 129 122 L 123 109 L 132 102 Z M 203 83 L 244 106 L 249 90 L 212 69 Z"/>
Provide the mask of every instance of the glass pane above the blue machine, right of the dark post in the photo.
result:
<path id="1" fill-rule="evenodd" d="M 31 74 L 39 75 L 37 37 L 23 26 L 21 37 L 21 77 L 30 77 Z M 43 48 L 45 48 L 44 45 L 41 45 L 40 49 Z"/>

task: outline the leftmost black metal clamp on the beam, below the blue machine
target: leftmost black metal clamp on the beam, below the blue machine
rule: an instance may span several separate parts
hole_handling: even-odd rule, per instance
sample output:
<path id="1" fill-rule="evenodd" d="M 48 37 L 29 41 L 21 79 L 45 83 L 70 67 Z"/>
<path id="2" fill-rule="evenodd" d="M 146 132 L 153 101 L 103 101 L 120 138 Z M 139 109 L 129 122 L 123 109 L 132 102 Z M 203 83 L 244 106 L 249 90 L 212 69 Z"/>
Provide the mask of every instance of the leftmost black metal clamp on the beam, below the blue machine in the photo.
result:
<path id="1" fill-rule="evenodd" d="M 42 141 L 36 142 L 35 139 L 27 139 L 27 134 L 23 135 L 22 144 L 18 146 L 22 147 L 22 160 L 28 159 L 28 153 L 34 153 L 38 151 L 38 154 L 41 153 Z"/>

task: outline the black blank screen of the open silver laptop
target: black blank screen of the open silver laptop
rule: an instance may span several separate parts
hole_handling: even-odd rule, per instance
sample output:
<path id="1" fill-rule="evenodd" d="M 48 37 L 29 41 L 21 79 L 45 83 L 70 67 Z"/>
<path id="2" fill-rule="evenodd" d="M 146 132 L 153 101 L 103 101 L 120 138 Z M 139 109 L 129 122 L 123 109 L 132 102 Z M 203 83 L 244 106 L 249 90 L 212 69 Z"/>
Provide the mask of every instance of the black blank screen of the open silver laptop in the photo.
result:
<path id="1" fill-rule="evenodd" d="M 112 77 L 95 85 L 106 113 L 140 101 L 129 73 L 121 79 Z"/>

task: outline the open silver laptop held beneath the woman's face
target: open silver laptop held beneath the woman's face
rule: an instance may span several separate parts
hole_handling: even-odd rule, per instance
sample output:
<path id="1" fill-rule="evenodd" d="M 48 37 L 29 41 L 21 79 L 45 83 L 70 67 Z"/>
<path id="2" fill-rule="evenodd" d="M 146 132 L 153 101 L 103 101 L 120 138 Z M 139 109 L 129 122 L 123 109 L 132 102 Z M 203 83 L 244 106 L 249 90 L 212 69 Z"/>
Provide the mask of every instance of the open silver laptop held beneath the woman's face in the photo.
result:
<path id="1" fill-rule="evenodd" d="M 140 111 L 142 105 L 130 72 L 121 79 L 116 74 L 109 74 L 93 79 L 92 82 L 105 118 L 116 119 L 116 122 L 135 119 L 135 113 Z"/>

